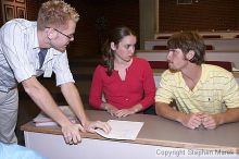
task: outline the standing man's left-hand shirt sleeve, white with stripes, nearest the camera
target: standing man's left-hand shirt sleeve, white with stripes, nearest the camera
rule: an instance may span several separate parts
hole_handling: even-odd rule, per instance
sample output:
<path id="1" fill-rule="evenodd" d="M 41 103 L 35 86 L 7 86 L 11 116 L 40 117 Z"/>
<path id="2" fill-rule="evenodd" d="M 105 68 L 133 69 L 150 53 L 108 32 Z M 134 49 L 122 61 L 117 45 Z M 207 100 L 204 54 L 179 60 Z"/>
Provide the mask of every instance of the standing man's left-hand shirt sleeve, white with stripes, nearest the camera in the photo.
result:
<path id="1" fill-rule="evenodd" d="M 23 29 L 17 23 L 8 23 L 1 28 L 2 51 L 18 83 L 35 75 L 26 53 L 27 35 Z"/>

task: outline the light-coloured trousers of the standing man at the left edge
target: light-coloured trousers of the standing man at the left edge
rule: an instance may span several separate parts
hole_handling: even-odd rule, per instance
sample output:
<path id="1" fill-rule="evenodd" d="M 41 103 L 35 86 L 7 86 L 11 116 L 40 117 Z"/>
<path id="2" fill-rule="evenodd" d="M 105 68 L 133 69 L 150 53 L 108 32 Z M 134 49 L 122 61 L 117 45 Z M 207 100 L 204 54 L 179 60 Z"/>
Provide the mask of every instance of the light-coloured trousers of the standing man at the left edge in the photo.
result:
<path id="1" fill-rule="evenodd" d="M 18 90 L 0 91 L 0 142 L 17 143 L 14 133 L 18 110 Z"/>

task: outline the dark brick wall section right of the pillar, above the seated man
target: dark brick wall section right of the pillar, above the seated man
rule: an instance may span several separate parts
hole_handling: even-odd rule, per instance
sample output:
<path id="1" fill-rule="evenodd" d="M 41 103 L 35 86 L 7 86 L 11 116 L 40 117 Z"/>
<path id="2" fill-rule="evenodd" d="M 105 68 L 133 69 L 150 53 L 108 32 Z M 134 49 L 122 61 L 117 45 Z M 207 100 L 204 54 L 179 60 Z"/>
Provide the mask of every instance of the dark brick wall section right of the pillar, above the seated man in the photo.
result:
<path id="1" fill-rule="evenodd" d="M 160 0 L 160 32 L 239 29 L 238 0 L 192 0 L 178 5 L 176 0 Z"/>

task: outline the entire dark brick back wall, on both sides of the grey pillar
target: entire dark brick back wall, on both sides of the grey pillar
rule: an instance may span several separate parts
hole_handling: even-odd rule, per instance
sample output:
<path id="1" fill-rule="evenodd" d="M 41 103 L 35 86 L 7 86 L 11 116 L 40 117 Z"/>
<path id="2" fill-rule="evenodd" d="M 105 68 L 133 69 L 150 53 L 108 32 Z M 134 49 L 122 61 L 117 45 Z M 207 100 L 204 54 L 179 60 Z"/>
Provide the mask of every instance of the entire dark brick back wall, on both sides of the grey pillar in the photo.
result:
<path id="1" fill-rule="evenodd" d="M 43 1 L 26 0 L 28 20 L 36 20 L 37 11 Z M 96 28 L 96 20 L 100 16 L 104 16 L 109 22 L 108 28 L 127 25 L 139 35 L 138 0 L 121 0 L 121 2 L 116 0 L 66 1 L 74 5 L 80 14 L 75 41 L 68 48 L 70 58 L 100 56 L 99 32 Z M 176 0 L 160 0 L 160 30 L 239 29 L 238 11 L 238 0 L 199 0 L 199 3 L 193 2 L 191 5 L 177 5 Z M 1 25 L 2 14 L 0 16 Z"/>

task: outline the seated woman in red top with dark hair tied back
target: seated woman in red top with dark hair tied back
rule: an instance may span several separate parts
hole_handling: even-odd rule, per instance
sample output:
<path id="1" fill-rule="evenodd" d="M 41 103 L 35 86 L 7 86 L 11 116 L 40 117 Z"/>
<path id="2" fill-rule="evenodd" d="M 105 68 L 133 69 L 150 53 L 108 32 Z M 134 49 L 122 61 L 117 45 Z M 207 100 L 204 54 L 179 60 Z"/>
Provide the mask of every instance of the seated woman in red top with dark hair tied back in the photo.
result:
<path id="1" fill-rule="evenodd" d="M 153 72 L 148 61 L 134 57 L 135 45 L 136 36 L 128 27 L 111 32 L 102 47 L 103 63 L 93 73 L 89 96 L 92 107 L 120 118 L 154 103 Z"/>

